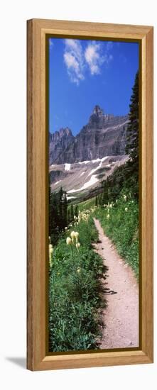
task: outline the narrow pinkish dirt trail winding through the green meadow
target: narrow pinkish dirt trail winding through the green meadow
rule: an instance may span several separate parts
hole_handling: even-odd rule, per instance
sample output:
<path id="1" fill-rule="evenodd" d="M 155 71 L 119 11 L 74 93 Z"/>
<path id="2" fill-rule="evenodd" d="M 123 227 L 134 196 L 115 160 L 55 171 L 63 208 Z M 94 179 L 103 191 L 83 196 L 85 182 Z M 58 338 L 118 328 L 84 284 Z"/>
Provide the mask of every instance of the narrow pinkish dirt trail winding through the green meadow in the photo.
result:
<path id="1" fill-rule="evenodd" d="M 108 307 L 104 309 L 101 349 L 139 346 L 139 286 L 131 267 L 119 257 L 112 241 L 104 235 L 99 221 L 94 218 L 99 233 L 95 250 L 104 259 L 107 272 Z M 104 282 L 104 283 L 105 283 Z"/>

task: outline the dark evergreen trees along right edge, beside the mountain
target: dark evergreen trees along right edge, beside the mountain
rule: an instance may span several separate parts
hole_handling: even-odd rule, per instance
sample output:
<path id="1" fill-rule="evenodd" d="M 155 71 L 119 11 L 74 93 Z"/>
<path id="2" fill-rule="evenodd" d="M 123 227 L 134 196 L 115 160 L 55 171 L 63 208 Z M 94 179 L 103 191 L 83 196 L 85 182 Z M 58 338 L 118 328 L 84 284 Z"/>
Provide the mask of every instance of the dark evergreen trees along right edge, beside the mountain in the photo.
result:
<path id="1" fill-rule="evenodd" d="M 114 169 L 113 174 L 102 183 L 102 193 L 95 198 L 96 206 L 114 201 L 122 189 L 131 192 L 137 201 L 139 199 L 139 71 L 136 73 L 129 108 L 125 150 L 129 159 Z"/>

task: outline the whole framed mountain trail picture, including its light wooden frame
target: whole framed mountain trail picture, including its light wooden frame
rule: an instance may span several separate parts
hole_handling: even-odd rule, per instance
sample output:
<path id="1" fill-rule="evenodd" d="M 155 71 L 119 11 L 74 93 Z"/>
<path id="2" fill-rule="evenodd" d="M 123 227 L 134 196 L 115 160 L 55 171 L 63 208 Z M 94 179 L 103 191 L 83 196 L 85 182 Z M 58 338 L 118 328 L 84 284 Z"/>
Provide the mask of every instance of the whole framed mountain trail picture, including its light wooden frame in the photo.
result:
<path id="1" fill-rule="evenodd" d="M 153 28 L 28 21 L 31 370 L 153 362 Z"/>

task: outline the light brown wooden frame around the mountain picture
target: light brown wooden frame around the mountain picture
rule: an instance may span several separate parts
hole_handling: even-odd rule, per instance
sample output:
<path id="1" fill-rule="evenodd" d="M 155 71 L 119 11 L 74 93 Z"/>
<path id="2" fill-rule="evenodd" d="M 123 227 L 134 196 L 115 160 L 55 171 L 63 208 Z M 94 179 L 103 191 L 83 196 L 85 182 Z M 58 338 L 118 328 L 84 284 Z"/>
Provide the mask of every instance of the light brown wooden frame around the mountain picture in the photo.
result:
<path id="1" fill-rule="evenodd" d="M 45 35 L 139 40 L 141 44 L 141 345 L 138 350 L 48 355 L 48 134 L 45 105 Z M 99 367 L 153 362 L 153 27 L 106 23 L 28 21 L 28 262 L 27 368 Z M 46 234 L 45 234 L 46 233 Z"/>

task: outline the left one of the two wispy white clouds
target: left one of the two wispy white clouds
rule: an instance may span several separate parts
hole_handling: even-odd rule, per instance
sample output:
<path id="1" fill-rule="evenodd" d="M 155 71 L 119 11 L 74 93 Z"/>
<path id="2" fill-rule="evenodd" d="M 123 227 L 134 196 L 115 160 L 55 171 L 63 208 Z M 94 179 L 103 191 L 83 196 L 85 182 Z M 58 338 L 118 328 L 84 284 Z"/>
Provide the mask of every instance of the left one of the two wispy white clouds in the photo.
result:
<path id="1" fill-rule="evenodd" d="M 83 50 L 79 40 L 65 39 L 64 61 L 71 82 L 79 85 L 84 76 Z"/>

